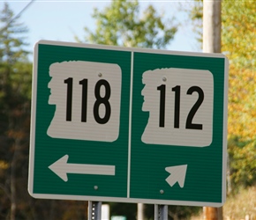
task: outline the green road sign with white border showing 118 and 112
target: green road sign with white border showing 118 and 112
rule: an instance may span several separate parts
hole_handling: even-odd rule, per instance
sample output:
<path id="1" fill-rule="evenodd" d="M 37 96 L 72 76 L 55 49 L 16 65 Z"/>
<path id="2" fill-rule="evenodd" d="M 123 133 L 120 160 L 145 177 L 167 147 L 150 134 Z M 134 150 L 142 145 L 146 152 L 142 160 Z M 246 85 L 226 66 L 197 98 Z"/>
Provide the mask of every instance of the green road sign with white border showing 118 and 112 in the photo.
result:
<path id="1" fill-rule="evenodd" d="M 39 41 L 29 193 L 221 206 L 227 84 L 221 54 Z"/>

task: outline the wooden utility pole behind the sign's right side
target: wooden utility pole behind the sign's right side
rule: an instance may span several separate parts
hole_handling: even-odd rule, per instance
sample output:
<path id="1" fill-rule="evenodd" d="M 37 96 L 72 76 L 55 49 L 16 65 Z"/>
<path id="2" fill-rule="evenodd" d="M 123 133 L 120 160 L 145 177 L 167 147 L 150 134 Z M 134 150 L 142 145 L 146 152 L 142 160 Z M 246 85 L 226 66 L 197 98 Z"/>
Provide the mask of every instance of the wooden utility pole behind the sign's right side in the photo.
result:
<path id="1" fill-rule="evenodd" d="M 203 52 L 221 53 L 222 0 L 203 1 Z M 204 207 L 205 220 L 222 220 L 222 208 Z"/>

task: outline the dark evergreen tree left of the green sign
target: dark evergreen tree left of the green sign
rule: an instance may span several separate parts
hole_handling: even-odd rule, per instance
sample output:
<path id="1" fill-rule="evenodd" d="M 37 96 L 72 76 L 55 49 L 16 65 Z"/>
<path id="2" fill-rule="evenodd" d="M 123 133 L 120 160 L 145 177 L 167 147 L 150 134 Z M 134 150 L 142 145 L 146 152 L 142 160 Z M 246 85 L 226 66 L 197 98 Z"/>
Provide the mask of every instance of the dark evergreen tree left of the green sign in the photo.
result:
<path id="1" fill-rule="evenodd" d="M 30 118 L 31 64 L 27 61 L 23 34 L 27 29 L 13 18 L 8 4 L 0 16 L 0 109 L 1 109 L 1 158 L 4 165 L 1 188 L 4 203 L 11 202 L 10 219 L 15 219 L 18 206 L 18 186 L 23 184 L 22 174 L 27 173 Z M 19 184 L 18 184 L 19 181 Z M 10 187 L 9 187 L 10 186 Z M 1 196 L 2 197 L 2 196 Z"/>

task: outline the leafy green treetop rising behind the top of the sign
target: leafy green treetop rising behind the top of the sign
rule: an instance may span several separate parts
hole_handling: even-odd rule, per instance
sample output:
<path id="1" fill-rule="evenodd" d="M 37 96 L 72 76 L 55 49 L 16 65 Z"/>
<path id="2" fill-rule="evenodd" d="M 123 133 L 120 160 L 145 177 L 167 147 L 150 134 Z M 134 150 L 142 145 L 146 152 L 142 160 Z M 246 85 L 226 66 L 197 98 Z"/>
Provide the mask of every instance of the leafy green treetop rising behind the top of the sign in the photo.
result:
<path id="1" fill-rule="evenodd" d="M 140 17 L 138 1 L 112 1 L 102 12 L 94 9 L 96 30 L 85 28 L 86 41 L 124 47 L 165 48 L 177 32 L 173 18 L 164 22 L 149 5 Z M 81 41 L 81 40 L 80 40 Z"/>

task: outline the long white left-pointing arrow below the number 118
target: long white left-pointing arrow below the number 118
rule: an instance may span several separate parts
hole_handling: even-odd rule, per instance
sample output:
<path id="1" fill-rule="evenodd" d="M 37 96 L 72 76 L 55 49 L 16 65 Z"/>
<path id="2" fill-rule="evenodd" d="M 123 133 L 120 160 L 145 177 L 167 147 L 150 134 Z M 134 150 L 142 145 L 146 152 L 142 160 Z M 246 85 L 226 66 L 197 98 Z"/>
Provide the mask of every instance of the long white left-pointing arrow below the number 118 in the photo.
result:
<path id="1" fill-rule="evenodd" d="M 80 164 L 68 164 L 69 156 L 58 159 L 52 165 L 49 165 L 49 169 L 55 172 L 65 182 L 68 180 L 67 173 L 76 174 L 95 174 L 95 175 L 115 175 L 115 165 L 80 165 Z"/>

